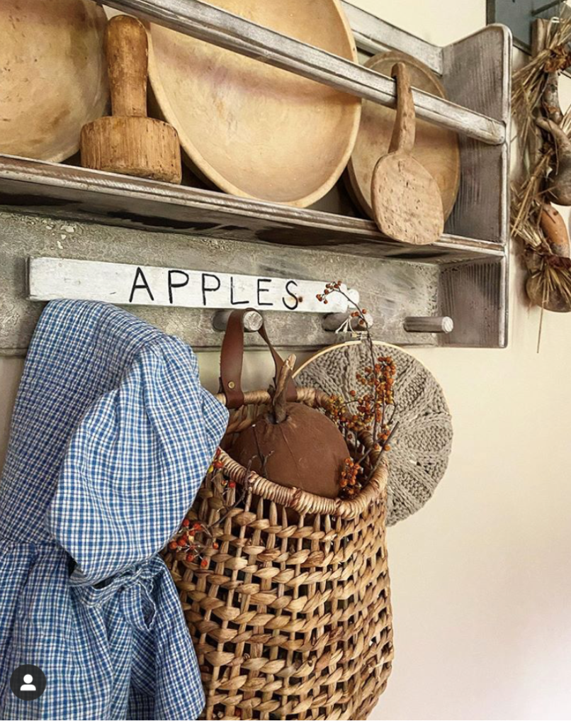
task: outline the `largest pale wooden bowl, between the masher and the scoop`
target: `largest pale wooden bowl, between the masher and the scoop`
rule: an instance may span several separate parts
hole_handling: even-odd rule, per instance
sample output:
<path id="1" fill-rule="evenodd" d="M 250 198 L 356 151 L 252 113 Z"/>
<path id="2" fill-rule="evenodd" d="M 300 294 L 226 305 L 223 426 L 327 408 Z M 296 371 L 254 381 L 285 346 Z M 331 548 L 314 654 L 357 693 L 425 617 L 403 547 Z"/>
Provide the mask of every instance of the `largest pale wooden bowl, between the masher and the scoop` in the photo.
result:
<path id="1" fill-rule="evenodd" d="M 338 0 L 213 4 L 350 60 Z M 226 192 L 305 207 L 335 184 L 353 150 L 361 100 L 151 25 L 149 78 L 199 176 Z"/>

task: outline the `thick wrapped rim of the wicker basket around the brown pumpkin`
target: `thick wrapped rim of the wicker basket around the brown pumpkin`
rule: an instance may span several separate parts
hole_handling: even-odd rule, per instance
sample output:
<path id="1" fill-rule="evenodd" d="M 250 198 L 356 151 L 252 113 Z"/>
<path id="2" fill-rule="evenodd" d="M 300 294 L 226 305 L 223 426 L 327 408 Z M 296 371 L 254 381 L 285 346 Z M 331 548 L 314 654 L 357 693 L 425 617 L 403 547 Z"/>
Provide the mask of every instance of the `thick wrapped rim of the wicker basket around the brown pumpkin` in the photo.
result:
<path id="1" fill-rule="evenodd" d="M 218 393 L 216 398 L 221 403 L 226 404 L 226 396 L 223 393 Z M 297 388 L 297 401 L 313 408 L 323 408 L 326 399 L 330 399 L 330 396 L 324 391 L 319 391 L 318 388 Z M 266 404 L 270 401 L 271 396 L 268 391 L 246 391 L 244 393 L 245 406 Z M 237 481 L 238 484 L 242 486 L 246 484 L 247 470 L 245 466 L 232 459 L 223 449 L 221 449 L 218 458 L 223 463 L 226 474 L 234 481 Z M 382 454 L 381 461 L 371 477 L 371 481 L 354 499 L 319 497 L 318 494 L 304 492 L 303 489 L 276 484 L 275 481 L 266 479 L 254 471 L 250 471 L 249 484 L 252 494 L 264 499 L 270 499 L 272 502 L 289 507 L 289 509 L 300 514 L 324 514 L 342 519 L 355 519 L 368 509 L 373 502 L 382 497 L 387 489 L 387 479 L 387 458 L 385 454 Z"/>

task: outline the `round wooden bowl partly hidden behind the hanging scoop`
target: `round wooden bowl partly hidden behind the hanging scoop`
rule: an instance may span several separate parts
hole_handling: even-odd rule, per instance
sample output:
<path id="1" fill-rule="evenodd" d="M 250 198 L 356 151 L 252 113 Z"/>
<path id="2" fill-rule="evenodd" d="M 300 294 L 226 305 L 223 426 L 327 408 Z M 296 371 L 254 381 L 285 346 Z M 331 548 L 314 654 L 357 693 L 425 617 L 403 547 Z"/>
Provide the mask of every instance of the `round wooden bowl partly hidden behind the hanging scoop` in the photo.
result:
<path id="1" fill-rule="evenodd" d="M 445 98 L 444 88 L 424 63 L 399 51 L 379 53 L 365 63 L 367 68 L 390 76 L 393 65 L 404 62 L 411 77 L 411 86 Z M 361 126 L 347 166 L 351 195 L 369 217 L 371 208 L 371 178 L 380 157 L 388 152 L 396 112 L 371 101 L 363 102 Z M 453 131 L 416 118 L 416 141 L 413 157 L 434 177 L 440 196 L 444 219 L 450 215 L 460 184 L 460 151 L 458 136 Z"/>

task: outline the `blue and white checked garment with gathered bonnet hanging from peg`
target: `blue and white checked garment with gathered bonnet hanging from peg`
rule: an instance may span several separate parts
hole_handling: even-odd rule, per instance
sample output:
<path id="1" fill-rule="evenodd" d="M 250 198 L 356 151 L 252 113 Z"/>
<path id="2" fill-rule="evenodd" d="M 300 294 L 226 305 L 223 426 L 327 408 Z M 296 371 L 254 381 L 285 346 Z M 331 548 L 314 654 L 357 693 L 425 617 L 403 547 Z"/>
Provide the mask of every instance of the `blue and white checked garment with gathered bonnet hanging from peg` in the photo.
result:
<path id="1" fill-rule="evenodd" d="M 192 350 L 126 311 L 44 310 L 0 482 L 0 719 L 195 719 L 204 696 L 157 552 L 226 428 Z M 21 701 L 20 664 L 46 690 Z"/>

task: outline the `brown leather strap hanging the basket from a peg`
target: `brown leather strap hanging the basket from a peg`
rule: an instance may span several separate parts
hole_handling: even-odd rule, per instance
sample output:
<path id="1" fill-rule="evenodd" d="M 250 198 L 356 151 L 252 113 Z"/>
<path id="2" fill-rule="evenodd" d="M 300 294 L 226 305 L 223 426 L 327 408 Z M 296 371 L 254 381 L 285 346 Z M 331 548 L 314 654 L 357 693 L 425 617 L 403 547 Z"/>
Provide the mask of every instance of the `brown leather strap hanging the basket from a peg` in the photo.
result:
<path id="1" fill-rule="evenodd" d="M 226 396 L 226 407 L 229 409 L 239 408 L 244 405 L 244 392 L 242 391 L 242 363 L 244 361 L 244 316 L 248 311 L 234 310 L 228 319 L 226 333 L 222 341 L 220 354 L 220 392 Z M 270 353 L 274 358 L 275 378 L 277 380 L 280 370 L 284 364 L 278 352 L 270 343 L 266 327 L 262 325 L 258 330 L 261 338 L 266 341 Z M 295 383 L 290 378 L 287 388 L 287 400 L 297 401 Z"/>

